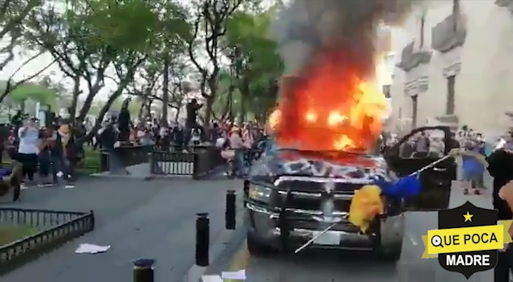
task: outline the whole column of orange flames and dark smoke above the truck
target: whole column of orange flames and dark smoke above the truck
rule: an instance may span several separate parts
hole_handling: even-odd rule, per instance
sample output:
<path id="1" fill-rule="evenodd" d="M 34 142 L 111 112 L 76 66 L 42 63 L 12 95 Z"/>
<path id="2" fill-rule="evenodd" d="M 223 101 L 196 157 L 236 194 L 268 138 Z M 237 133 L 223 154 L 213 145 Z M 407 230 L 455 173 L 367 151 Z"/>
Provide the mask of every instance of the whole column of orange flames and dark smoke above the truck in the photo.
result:
<path id="1" fill-rule="evenodd" d="M 285 63 L 277 142 L 303 150 L 370 149 L 389 105 L 376 85 L 382 25 L 401 25 L 422 0 L 295 0 L 272 25 Z M 387 46 L 386 49 L 388 49 Z M 276 119 L 275 119 L 276 117 Z"/>

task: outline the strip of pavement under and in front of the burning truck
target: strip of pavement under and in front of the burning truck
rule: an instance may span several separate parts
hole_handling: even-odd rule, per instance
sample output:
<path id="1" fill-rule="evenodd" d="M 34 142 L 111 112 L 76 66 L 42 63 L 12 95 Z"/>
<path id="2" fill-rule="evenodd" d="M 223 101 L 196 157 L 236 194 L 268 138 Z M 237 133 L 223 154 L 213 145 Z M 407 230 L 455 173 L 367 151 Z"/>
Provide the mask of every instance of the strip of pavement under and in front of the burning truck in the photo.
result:
<path id="1" fill-rule="evenodd" d="M 491 208 L 488 196 L 463 196 L 455 191 L 451 195 L 451 207 L 465 201 L 476 206 Z M 369 253 L 347 253 L 340 251 L 310 250 L 289 257 L 250 257 L 246 251 L 244 230 L 234 236 L 229 248 L 206 274 L 220 274 L 220 271 L 246 269 L 246 282 L 463 282 L 462 274 L 442 269 L 437 259 L 420 259 L 424 246 L 422 235 L 428 229 L 437 228 L 436 213 L 407 213 L 407 235 L 403 243 L 401 260 L 397 264 L 377 262 Z M 493 281 L 491 271 L 474 274 L 468 281 Z"/>

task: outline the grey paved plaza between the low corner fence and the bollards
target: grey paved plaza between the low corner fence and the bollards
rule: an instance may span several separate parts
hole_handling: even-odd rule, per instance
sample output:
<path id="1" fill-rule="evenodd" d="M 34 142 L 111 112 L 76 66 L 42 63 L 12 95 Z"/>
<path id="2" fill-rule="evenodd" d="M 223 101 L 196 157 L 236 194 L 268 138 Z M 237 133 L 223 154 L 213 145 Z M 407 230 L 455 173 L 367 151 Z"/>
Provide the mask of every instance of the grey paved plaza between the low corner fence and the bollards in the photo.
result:
<path id="1" fill-rule="evenodd" d="M 74 189 L 34 188 L 11 206 L 93 210 L 96 228 L 1 277 L 2 282 L 131 281 L 131 261 L 153 258 L 156 281 L 182 281 L 194 264 L 195 213 L 211 215 L 211 246 L 222 240 L 225 191 L 233 180 L 91 178 Z M 3 205 L 4 206 L 4 205 Z M 111 245 L 107 253 L 76 255 L 79 243 Z"/>

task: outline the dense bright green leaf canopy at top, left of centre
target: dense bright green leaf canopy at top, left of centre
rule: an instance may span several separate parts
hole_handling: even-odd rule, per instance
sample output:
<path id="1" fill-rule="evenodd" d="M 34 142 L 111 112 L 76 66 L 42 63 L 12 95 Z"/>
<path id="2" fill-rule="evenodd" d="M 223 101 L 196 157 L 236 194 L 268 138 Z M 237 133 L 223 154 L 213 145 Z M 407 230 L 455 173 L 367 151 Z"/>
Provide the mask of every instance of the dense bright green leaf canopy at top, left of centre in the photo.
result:
<path id="1" fill-rule="evenodd" d="M 76 9 L 80 7 L 80 9 Z M 188 34 L 185 11 L 174 1 L 75 1 L 65 12 L 75 41 L 88 48 L 107 46 L 121 51 L 160 51 Z"/>

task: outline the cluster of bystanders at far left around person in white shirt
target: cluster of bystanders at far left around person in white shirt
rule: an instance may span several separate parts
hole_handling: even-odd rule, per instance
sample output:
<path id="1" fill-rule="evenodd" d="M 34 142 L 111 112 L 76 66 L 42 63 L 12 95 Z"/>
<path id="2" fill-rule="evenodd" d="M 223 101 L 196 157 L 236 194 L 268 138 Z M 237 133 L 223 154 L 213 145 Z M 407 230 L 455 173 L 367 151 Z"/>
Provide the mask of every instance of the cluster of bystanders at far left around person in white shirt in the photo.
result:
<path id="1" fill-rule="evenodd" d="M 67 187 L 74 186 L 75 168 L 84 150 L 77 142 L 81 133 L 68 119 L 41 126 L 38 119 L 18 112 L 1 128 L 0 156 L 20 164 L 23 185 L 51 186 L 62 179 Z"/>

